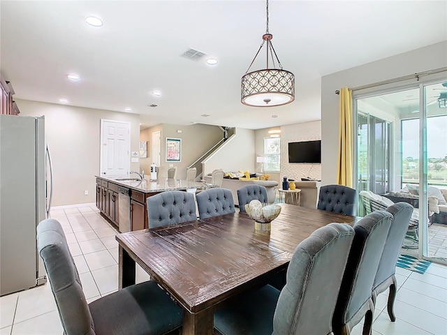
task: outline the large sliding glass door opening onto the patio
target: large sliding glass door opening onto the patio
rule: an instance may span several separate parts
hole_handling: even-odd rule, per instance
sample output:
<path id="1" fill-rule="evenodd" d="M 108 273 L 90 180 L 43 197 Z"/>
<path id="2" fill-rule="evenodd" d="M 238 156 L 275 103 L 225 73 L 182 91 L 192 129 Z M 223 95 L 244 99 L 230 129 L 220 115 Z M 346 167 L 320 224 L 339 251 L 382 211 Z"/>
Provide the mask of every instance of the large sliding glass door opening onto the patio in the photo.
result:
<path id="1" fill-rule="evenodd" d="M 355 98 L 356 179 L 414 207 L 404 252 L 447 259 L 447 80 Z M 354 96 L 356 96 L 354 94 Z M 362 200 L 358 214 L 365 215 Z"/>

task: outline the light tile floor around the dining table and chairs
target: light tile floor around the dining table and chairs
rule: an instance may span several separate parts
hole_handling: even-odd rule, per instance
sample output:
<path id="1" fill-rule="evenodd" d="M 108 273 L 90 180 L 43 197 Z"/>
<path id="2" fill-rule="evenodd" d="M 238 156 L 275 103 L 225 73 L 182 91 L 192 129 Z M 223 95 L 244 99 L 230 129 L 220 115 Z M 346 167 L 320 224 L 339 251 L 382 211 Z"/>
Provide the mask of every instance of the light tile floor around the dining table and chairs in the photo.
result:
<path id="1" fill-rule="evenodd" d="M 64 227 L 88 302 L 118 289 L 117 231 L 94 205 L 54 209 L 52 218 Z M 137 265 L 138 283 L 149 276 Z M 379 295 L 374 335 L 447 334 L 447 266 L 432 264 L 421 275 L 396 269 L 396 322 L 386 312 L 387 293 Z M 0 335 L 63 334 L 50 285 L 0 297 Z M 362 326 L 353 328 L 361 334 Z"/>

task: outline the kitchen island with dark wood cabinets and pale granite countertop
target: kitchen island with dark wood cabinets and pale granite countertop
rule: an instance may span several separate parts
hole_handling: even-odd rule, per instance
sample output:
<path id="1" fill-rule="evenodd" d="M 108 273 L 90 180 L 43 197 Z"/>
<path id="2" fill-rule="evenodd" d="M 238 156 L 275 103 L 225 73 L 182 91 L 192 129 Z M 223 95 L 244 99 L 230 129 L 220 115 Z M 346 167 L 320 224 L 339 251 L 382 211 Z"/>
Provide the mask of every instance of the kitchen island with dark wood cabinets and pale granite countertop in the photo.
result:
<path id="1" fill-rule="evenodd" d="M 195 191 L 206 185 L 196 181 L 129 176 L 96 176 L 96 207 L 119 232 L 149 228 L 146 199 L 164 191 Z"/>

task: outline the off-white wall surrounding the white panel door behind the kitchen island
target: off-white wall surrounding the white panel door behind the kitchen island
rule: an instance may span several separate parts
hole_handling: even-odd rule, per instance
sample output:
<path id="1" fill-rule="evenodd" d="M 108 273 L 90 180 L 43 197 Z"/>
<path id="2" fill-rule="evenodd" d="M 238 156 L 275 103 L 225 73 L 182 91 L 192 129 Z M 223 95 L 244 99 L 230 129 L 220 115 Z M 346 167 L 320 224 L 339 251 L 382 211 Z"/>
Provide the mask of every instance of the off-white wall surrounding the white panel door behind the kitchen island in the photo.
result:
<path id="1" fill-rule="evenodd" d="M 52 205 L 95 202 L 101 119 L 131 123 L 131 151 L 140 150 L 140 116 L 36 101 L 16 100 L 20 115 L 45 115 L 45 137 L 53 164 Z M 139 168 L 131 163 L 131 170 Z M 89 191 L 84 195 L 84 191 Z"/>

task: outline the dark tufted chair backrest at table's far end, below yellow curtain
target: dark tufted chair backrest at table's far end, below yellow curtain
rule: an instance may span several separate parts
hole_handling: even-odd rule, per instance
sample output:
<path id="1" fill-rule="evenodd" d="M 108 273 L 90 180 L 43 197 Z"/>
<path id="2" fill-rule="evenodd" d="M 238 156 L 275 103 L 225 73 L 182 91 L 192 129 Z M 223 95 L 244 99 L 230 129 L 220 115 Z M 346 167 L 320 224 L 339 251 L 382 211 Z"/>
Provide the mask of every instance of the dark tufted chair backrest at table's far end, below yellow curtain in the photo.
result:
<path id="1" fill-rule="evenodd" d="M 345 215 L 356 214 L 357 191 L 343 185 L 321 186 L 317 209 Z"/>

